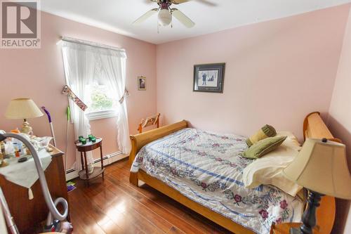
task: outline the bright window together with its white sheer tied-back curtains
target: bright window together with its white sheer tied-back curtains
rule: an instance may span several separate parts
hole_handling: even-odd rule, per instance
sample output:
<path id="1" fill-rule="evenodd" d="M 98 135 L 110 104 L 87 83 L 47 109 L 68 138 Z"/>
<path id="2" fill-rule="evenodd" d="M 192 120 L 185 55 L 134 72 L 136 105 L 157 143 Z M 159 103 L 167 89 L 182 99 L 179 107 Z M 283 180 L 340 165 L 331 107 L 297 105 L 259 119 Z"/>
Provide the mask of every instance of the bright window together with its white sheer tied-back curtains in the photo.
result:
<path id="1" fill-rule="evenodd" d="M 66 84 L 88 106 L 83 112 L 80 105 L 75 105 L 77 100 L 69 101 L 76 134 L 88 135 L 91 131 L 88 119 L 118 116 L 115 122 L 119 148 L 128 154 L 131 141 L 126 101 L 119 103 L 126 89 L 126 51 L 123 48 L 65 37 L 61 43 Z M 91 160 L 88 157 L 88 161 Z M 80 166 L 80 160 L 76 161 L 76 169 L 80 169 Z"/>

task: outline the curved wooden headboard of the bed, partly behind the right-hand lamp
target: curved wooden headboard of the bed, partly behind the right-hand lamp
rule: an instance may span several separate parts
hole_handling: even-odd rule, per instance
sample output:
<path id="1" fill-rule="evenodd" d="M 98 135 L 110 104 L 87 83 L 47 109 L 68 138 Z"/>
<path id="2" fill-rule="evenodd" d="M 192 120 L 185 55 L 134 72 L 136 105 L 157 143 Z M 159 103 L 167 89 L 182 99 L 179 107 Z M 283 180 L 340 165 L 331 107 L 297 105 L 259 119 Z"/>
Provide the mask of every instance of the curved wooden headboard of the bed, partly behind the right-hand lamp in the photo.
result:
<path id="1" fill-rule="evenodd" d="M 327 138 L 330 141 L 341 143 L 338 138 L 334 138 L 331 131 L 324 123 L 319 112 L 312 112 L 305 117 L 303 122 L 303 137 L 306 138 Z M 336 213 L 335 198 L 324 196 L 321 205 L 317 209 L 317 230 L 321 234 L 329 234 L 333 229 Z"/>

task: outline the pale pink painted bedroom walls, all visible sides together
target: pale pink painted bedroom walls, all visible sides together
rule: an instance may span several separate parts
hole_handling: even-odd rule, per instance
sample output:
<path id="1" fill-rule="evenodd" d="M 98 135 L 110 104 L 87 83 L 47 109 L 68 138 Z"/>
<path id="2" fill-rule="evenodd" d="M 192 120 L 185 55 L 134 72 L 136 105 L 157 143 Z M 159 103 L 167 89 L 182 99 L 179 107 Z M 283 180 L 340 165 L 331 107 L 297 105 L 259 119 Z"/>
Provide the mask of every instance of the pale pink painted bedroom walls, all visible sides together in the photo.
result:
<path id="1" fill-rule="evenodd" d="M 158 111 L 164 124 L 188 119 L 201 129 L 249 135 L 270 123 L 301 138 L 303 117 L 319 110 L 324 116 L 330 112 L 333 133 L 350 148 L 351 16 L 338 63 L 349 8 L 338 6 L 159 46 L 42 13 L 41 49 L 0 50 L 0 129 L 21 124 L 4 118 L 8 101 L 30 97 L 51 111 L 58 147 L 65 149 L 67 98 L 60 93 L 65 79 L 56 43 L 67 36 L 126 48 L 131 134 L 141 118 Z M 192 92 L 193 65 L 221 62 L 227 63 L 224 93 Z M 147 77 L 147 91 L 137 90 L 138 75 Z M 50 134 L 46 117 L 30 122 L 37 135 Z M 91 122 L 93 134 L 105 139 L 105 154 L 118 150 L 114 122 Z M 70 129 L 69 165 L 74 155 Z M 345 223 L 344 233 L 350 233 L 350 204 L 338 205 L 334 233 L 341 233 Z"/>

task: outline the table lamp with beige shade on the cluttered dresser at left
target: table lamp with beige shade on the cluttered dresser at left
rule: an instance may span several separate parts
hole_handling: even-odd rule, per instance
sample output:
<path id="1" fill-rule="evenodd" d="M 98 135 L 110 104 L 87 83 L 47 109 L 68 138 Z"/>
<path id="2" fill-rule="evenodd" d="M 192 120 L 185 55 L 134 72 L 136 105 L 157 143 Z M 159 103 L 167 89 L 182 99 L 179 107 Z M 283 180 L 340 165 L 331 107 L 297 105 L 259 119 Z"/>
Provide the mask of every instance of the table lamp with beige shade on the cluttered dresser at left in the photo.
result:
<path id="1" fill-rule="evenodd" d="M 34 101 L 29 98 L 15 98 L 11 100 L 5 112 L 5 117 L 7 119 L 23 119 L 23 125 L 20 131 L 24 134 L 31 134 L 33 131 L 27 119 L 41 116 L 43 116 L 43 113 Z"/>

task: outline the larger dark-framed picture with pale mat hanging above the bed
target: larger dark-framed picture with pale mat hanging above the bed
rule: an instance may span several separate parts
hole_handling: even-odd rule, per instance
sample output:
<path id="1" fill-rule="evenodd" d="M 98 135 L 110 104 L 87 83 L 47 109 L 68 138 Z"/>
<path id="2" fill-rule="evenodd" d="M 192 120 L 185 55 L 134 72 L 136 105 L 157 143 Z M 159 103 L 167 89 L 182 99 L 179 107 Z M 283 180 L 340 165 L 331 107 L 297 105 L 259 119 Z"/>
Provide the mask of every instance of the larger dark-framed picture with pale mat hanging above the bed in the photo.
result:
<path id="1" fill-rule="evenodd" d="M 223 93 L 225 63 L 194 65 L 194 89 L 199 92 Z"/>

